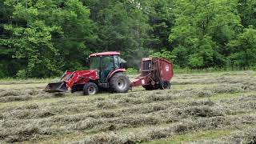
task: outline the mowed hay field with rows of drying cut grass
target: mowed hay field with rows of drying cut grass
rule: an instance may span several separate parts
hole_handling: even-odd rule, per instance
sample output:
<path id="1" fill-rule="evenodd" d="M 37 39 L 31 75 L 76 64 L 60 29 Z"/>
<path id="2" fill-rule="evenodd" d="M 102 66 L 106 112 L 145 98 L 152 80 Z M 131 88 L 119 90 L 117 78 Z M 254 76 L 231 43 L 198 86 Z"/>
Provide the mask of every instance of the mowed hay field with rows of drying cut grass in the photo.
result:
<path id="1" fill-rule="evenodd" d="M 170 90 L 93 96 L 0 80 L 0 143 L 253 143 L 255 75 L 175 74 Z"/>

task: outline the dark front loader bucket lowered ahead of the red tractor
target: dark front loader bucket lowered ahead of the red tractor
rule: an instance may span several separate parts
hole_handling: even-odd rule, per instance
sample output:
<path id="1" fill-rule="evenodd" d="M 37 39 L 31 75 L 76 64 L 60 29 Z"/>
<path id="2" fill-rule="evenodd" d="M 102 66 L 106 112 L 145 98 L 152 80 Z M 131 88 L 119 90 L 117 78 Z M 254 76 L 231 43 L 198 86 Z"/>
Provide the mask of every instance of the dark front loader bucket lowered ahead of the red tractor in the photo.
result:
<path id="1" fill-rule="evenodd" d="M 43 91 L 46 91 L 48 93 L 60 93 L 66 92 L 66 90 L 66 82 L 53 82 L 49 83 Z"/>

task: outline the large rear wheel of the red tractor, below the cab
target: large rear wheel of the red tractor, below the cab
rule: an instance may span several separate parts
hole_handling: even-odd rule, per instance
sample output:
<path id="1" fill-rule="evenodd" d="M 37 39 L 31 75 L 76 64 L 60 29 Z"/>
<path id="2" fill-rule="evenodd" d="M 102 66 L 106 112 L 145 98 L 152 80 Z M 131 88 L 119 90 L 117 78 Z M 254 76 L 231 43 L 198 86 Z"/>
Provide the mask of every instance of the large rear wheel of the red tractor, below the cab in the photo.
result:
<path id="1" fill-rule="evenodd" d="M 129 78 L 122 73 L 116 73 L 110 78 L 110 89 L 116 93 L 126 93 L 130 89 Z"/>

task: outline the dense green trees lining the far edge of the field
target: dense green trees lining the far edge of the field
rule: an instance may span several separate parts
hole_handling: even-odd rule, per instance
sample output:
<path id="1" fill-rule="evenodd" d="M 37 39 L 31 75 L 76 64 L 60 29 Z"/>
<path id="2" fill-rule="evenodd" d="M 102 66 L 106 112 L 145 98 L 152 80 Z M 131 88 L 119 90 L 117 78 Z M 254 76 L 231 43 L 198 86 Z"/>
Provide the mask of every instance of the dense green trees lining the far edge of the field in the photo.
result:
<path id="1" fill-rule="evenodd" d="M 148 55 L 175 66 L 256 64 L 254 0 L 3 0 L 0 78 L 85 69 L 90 53 L 118 50 L 138 68 Z"/>

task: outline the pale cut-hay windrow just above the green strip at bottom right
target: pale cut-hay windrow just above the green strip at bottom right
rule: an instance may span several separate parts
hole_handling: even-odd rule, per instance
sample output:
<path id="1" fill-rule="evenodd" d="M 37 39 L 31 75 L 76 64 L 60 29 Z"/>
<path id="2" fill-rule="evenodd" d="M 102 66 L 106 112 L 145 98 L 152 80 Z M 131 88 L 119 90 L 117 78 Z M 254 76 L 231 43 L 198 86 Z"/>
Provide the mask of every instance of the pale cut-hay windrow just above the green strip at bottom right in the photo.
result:
<path id="1" fill-rule="evenodd" d="M 246 118 L 246 120 L 242 119 Z M 103 134 L 95 134 L 89 138 L 86 138 L 82 141 L 73 142 L 73 143 L 138 143 L 138 142 L 149 142 L 158 138 L 168 138 L 175 136 L 177 134 L 186 134 L 189 132 L 195 132 L 198 130 L 215 130 L 219 128 L 230 128 L 235 126 L 242 126 L 243 121 L 248 122 L 250 119 L 250 124 L 256 124 L 256 117 L 248 118 L 245 117 L 214 117 L 214 118 L 202 118 L 198 120 L 185 119 L 182 122 L 177 122 L 171 124 L 169 126 L 161 127 L 161 126 L 153 126 L 147 128 L 146 130 L 142 130 L 138 133 L 103 133 Z M 240 137 L 241 138 L 241 137 Z M 253 139 L 253 137 L 252 137 Z"/>

